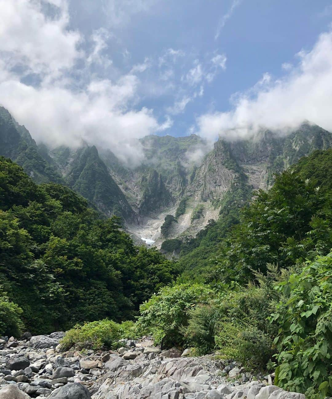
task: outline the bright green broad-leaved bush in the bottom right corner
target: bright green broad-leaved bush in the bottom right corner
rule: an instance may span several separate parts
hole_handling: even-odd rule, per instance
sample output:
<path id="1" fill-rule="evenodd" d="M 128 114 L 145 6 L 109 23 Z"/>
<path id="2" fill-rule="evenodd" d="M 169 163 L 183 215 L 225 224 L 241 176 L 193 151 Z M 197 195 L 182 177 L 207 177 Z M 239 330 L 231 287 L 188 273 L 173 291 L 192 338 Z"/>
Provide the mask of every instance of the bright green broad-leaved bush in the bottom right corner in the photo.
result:
<path id="1" fill-rule="evenodd" d="M 309 398 L 331 396 L 332 252 L 307 261 L 277 290 L 289 294 L 270 318 L 280 328 L 275 338 L 278 385 Z"/>

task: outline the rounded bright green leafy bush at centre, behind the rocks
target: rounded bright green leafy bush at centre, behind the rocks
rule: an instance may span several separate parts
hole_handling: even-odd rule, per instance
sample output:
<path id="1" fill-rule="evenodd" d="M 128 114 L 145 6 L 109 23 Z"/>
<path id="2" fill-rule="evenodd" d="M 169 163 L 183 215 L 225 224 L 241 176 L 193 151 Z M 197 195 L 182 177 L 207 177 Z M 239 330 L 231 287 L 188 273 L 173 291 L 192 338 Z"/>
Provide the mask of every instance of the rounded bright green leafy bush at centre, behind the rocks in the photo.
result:
<path id="1" fill-rule="evenodd" d="M 162 288 L 140 306 L 138 324 L 152 334 L 157 344 L 183 345 L 182 328 L 188 324 L 188 311 L 211 300 L 213 291 L 199 284 L 177 284 Z"/>

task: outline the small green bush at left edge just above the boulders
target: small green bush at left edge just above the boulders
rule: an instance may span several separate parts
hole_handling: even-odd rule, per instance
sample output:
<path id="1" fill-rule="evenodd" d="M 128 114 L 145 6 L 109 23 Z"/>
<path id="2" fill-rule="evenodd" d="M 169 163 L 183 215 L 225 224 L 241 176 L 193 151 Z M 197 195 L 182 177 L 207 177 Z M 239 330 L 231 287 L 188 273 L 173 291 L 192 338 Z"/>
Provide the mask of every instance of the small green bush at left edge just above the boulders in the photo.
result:
<path id="1" fill-rule="evenodd" d="M 7 296 L 0 296 L 0 336 L 20 337 L 24 328 L 20 315 L 23 310 Z"/>

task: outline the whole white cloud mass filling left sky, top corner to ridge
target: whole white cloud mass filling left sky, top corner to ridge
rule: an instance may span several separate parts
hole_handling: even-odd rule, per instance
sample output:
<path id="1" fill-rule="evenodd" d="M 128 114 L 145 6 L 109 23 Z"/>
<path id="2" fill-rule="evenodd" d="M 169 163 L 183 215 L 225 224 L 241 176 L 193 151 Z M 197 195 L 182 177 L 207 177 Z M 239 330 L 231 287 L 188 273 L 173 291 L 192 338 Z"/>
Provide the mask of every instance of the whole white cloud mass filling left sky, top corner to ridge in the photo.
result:
<path id="1" fill-rule="evenodd" d="M 45 14 L 45 2 L 57 8 L 53 16 Z M 148 2 L 124 3 L 143 10 Z M 159 124 L 151 109 L 134 108 L 135 73 L 148 67 L 147 60 L 114 80 L 92 73 L 91 64 L 111 63 L 103 55 L 110 34 L 95 31 L 92 51 L 83 53 L 85 38 L 68 28 L 67 0 L 0 0 L 0 9 L 0 101 L 37 142 L 75 147 L 84 140 L 135 165 L 143 152 L 133 140 L 172 126 L 169 117 Z M 29 85 L 29 74 L 40 84 Z"/>

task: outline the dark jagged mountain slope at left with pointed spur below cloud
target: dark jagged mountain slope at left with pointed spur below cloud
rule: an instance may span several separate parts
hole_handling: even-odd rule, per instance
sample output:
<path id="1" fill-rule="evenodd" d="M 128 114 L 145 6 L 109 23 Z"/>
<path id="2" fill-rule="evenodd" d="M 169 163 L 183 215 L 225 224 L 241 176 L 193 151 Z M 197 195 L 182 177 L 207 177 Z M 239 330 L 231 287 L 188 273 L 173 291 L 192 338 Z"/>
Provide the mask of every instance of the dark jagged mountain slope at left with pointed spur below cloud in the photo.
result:
<path id="1" fill-rule="evenodd" d="M 0 155 L 17 162 L 37 183 L 66 184 L 105 215 L 136 220 L 94 146 L 83 146 L 77 151 L 67 147 L 50 151 L 45 144 L 37 146 L 29 131 L 0 107 Z"/>

